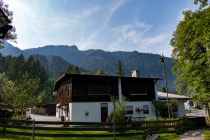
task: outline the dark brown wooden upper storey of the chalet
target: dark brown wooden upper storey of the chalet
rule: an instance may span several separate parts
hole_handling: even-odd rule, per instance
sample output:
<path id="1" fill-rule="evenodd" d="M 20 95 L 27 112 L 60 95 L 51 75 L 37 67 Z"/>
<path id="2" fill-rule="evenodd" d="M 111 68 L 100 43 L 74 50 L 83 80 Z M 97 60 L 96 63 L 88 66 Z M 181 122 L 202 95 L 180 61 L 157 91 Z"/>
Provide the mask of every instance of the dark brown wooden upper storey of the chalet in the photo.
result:
<path id="1" fill-rule="evenodd" d="M 119 96 L 119 79 L 122 95 L 128 101 L 155 100 L 154 85 L 158 78 L 64 74 L 57 80 L 54 90 L 61 105 L 70 102 L 108 102 L 111 96 Z"/>

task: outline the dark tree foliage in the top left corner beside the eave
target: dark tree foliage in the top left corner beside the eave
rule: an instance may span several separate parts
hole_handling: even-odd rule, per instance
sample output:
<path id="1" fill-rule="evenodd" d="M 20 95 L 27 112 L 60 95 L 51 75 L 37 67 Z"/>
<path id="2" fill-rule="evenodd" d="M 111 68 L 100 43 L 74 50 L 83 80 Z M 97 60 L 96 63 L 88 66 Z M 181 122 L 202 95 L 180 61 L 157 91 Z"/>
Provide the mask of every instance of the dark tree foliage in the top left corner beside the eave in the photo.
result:
<path id="1" fill-rule="evenodd" d="M 8 5 L 0 0 L 0 11 L 3 12 L 8 20 L 6 25 L 0 27 L 0 38 L 4 40 L 15 40 L 17 38 L 17 34 L 15 33 L 15 27 L 11 25 L 13 19 L 13 12 L 8 9 Z M 1 18 L 0 18 L 1 20 Z"/>

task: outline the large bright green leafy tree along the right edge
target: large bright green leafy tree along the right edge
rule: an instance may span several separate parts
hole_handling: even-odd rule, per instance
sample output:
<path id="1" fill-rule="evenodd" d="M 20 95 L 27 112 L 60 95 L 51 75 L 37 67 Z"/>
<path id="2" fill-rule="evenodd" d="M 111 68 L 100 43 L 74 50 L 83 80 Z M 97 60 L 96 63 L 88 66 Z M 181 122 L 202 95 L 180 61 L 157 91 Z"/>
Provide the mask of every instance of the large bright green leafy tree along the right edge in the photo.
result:
<path id="1" fill-rule="evenodd" d="M 173 34 L 173 71 L 179 94 L 192 95 L 202 104 L 210 102 L 210 7 L 185 11 Z"/>

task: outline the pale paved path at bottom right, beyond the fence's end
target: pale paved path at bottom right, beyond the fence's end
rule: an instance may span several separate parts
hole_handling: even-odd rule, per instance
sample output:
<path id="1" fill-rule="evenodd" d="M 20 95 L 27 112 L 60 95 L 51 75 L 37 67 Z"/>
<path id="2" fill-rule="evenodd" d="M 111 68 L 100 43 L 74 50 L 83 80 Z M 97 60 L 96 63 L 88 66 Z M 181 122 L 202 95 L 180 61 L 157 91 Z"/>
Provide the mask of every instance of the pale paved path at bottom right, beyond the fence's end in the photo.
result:
<path id="1" fill-rule="evenodd" d="M 204 140 L 203 130 L 187 131 L 180 135 L 180 140 Z"/>

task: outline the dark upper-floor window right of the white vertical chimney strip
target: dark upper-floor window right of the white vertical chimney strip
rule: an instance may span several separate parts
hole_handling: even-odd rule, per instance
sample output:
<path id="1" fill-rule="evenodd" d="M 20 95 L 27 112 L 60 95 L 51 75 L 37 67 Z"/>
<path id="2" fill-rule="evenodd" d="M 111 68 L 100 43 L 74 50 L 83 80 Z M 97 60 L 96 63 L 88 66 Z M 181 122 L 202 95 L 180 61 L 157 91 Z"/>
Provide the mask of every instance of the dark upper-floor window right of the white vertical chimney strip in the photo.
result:
<path id="1" fill-rule="evenodd" d="M 129 95 L 147 95 L 146 86 L 129 86 Z"/>

